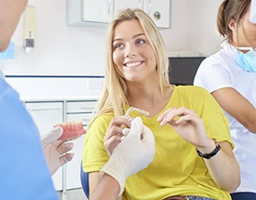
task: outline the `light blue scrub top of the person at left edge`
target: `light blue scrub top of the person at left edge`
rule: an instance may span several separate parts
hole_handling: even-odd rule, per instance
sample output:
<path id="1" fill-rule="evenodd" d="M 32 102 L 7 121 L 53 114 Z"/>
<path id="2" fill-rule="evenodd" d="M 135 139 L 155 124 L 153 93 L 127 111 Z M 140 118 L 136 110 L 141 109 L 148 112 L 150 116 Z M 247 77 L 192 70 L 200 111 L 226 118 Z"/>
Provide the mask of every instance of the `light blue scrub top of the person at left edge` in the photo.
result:
<path id="1" fill-rule="evenodd" d="M 0 199 L 58 200 L 38 129 L 19 94 L 0 78 Z"/>

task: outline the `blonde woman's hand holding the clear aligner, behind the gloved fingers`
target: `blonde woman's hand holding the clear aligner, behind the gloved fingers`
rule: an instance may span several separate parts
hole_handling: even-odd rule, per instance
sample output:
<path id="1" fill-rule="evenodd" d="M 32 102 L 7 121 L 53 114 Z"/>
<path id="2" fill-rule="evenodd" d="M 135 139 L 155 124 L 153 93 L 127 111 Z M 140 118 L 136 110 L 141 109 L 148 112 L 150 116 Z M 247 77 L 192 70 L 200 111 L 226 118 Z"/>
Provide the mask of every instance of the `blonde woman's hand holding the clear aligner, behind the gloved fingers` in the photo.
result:
<path id="1" fill-rule="evenodd" d="M 120 143 L 122 137 L 124 137 L 124 127 L 130 127 L 130 121 L 126 116 L 119 116 L 112 119 L 104 137 L 104 147 L 109 156 Z"/>

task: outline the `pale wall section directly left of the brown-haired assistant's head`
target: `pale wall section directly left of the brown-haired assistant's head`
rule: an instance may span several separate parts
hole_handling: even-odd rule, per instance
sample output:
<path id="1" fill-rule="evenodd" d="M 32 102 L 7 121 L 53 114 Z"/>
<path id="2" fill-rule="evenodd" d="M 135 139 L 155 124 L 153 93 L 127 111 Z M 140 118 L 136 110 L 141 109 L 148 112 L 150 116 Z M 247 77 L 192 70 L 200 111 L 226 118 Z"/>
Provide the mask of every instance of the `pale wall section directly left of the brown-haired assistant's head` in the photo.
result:
<path id="1" fill-rule="evenodd" d="M 218 51 L 222 42 L 217 29 L 218 8 L 223 0 L 188 1 L 188 48 L 197 49 L 204 55 Z"/>

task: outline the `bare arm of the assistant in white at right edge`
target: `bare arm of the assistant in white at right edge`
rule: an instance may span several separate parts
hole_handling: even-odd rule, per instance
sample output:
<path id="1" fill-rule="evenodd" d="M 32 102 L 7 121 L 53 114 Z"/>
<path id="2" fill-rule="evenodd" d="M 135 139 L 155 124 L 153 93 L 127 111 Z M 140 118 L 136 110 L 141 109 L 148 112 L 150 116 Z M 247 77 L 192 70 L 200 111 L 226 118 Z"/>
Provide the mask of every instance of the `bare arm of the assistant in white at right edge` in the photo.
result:
<path id="1" fill-rule="evenodd" d="M 256 109 L 236 89 L 225 87 L 211 93 L 222 109 L 232 115 L 250 132 L 256 133 Z"/>

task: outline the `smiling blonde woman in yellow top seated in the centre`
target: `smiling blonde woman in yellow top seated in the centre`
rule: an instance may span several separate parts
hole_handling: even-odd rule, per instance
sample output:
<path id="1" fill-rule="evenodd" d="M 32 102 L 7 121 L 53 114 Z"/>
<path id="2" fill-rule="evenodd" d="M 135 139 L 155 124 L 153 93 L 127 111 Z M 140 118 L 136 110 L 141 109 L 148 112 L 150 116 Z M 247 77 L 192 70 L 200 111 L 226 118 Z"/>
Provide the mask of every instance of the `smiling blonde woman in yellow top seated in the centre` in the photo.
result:
<path id="1" fill-rule="evenodd" d="M 163 39 L 141 9 L 124 10 L 110 23 L 105 72 L 99 112 L 84 146 L 90 195 L 101 167 L 126 137 L 124 127 L 140 116 L 155 136 L 155 158 L 127 179 L 119 198 L 231 199 L 229 193 L 240 182 L 239 167 L 222 109 L 201 87 L 169 85 Z M 126 114 L 131 107 L 137 109 Z"/>

